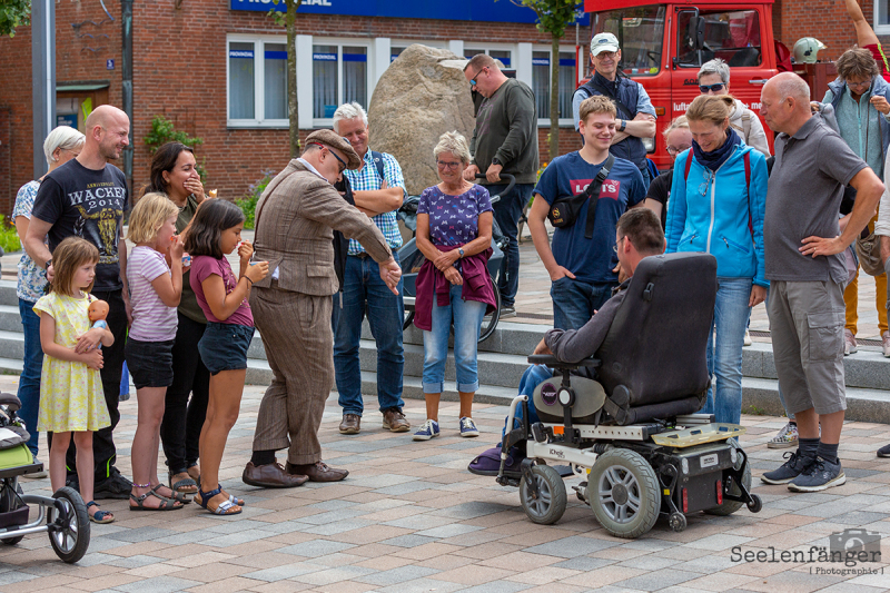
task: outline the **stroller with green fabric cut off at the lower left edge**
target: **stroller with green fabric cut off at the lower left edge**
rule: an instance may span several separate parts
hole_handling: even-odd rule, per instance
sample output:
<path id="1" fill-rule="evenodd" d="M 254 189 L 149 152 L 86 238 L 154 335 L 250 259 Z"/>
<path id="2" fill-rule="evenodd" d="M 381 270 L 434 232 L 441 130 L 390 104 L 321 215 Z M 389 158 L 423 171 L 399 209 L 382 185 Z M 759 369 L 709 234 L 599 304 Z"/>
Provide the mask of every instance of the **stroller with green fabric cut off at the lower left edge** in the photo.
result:
<path id="1" fill-rule="evenodd" d="M 90 545 L 87 506 L 80 494 L 68 486 L 56 491 L 52 497 L 22 493 L 19 476 L 40 472 L 43 464 L 34 463 L 28 448 L 30 435 L 16 417 L 19 408 L 17 396 L 0 393 L 0 540 L 16 545 L 28 534 L 47 532 L 56 555 L 75 563 Z M 29 504 L 39 507 L 37 518 L 30 523 Z"/>

